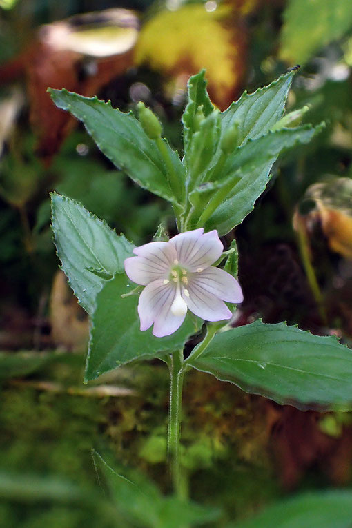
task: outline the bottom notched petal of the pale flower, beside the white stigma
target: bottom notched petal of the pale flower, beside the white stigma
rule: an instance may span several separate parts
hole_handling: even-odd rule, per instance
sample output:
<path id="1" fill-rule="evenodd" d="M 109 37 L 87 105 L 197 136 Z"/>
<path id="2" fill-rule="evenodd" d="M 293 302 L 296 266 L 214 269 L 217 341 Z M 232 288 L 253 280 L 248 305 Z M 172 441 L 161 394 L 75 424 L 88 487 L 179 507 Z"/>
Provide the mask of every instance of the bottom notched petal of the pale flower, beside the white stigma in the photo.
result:
<path id="1" fill-rule="evenodd" d="M 138 303 L 141 331 L 147 330 L 154 323 L 153 335 L 163 338 L 174 333 L 182 325 L 186 314 L 177 316 L 171 312 L 175 294 L 175 284 L 164 284 L 163 280 L 150 282 L 144 288 Z"/>

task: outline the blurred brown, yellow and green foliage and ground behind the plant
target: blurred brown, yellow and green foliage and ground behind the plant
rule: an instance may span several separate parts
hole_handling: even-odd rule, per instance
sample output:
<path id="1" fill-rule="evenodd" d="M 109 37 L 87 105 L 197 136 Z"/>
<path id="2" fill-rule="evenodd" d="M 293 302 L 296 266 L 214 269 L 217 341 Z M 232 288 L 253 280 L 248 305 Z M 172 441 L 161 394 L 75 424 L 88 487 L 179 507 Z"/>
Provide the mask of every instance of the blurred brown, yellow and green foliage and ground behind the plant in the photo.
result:
<path id="1" fill-rule="evenodd" d="M 327 126 L 280 159 L 255 211 L 224 240 L 239 245 L 237 324 L 287 320 L 350 344 L 351 2 L 0 0 L 0 17 L 0 518 L 8 528 L 121 526 L 90 451 L 168 491 L 167 373 L 145 364 L 81 384 L 88 321 L 57 271 L 48 193 L 79 199 L 135 244 L 160 219 L 171 234 L 175 225 L 46 88 L 124 111 L 144 101 L 181 153 L 189 75 L 206 68 L 224 110 L 300 64 L 288 109 L 308 106 L 303 121 Z M 193 373 L 183 436 L 190 495 L 222 508 L 219 526 L 297 489 L 351 485 L 349 413 L 278 407 Z"/>

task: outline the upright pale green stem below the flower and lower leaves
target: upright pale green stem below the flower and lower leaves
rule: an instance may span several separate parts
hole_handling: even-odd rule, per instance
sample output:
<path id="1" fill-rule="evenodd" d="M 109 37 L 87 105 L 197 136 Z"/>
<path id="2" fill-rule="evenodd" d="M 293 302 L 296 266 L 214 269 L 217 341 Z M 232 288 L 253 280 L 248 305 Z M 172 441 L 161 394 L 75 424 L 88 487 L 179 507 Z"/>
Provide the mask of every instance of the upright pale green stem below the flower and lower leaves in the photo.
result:
<path id="1" fill-rule="evenodd" d="M 182 496 L 181 461 L 179 439 L 181 436 L 182 385 L 184 372 L 182 350 L 171 354 L 170 362 L 170 406 L 168 409 L 168 459 L 173 487 L 178 496 Z"/>

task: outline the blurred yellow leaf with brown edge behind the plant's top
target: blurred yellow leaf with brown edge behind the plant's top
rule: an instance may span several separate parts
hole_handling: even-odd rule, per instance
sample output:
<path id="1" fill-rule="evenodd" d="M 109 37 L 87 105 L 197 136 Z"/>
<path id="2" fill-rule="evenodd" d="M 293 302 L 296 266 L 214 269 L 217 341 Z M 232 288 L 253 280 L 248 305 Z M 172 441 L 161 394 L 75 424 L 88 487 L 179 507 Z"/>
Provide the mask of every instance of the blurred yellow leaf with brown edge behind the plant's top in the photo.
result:
<path id="1" fill-rule="evenodd" d="M 215 4 L 207 10 L 210 3 L 215 4 L 190 4 L 157 13 L 141 29 L 135 61 L 185 78 L 206 68 L 211 98 L 223 108 L 237 95 L 242 79 L 246 31 L 238 24 L 242 10 L 233 17 L 231 6 L 216 8 Z"/>

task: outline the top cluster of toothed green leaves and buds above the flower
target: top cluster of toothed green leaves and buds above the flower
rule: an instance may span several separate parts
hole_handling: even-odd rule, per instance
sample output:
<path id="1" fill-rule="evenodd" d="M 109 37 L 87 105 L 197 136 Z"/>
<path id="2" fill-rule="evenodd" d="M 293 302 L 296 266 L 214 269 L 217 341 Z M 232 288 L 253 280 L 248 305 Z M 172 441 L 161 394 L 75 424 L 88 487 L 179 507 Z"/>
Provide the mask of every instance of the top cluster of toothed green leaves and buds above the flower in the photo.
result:
<path id="1" fill-rule="evenodd" d="M 150 133 L 145 112 L 139 110 L 139 121 L 96 97 L 49 91 L 59 108 L 84 122 L 97 146 L 118 168 L 173 204 L 179 231 L 204 227 L 222 236 L 251 212 L 277 156 L 308 143 L 321 128 L 284 128 L 284 124 L 277 128 L 293 75 L 288 72 L 253 94 L 245 92 L 222 113 L 211 104 L 204 71 L 190 77 L 182 116 L 182 159 L 162 139 L 159 128 Z"/>

